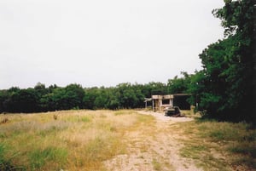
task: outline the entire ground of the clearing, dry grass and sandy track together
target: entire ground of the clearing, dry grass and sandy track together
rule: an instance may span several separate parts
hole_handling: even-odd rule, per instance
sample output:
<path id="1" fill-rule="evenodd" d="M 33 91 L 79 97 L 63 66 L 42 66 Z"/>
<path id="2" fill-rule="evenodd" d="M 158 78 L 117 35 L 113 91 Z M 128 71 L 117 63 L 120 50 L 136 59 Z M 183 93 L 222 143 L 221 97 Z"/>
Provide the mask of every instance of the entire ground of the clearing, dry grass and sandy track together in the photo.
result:
<path id="1" fill-rule="evenodd" d="M 0 170 L 256 169 L 256 131 L 247 123 L 156 116 L 132 110 L 0 115 Z"/>

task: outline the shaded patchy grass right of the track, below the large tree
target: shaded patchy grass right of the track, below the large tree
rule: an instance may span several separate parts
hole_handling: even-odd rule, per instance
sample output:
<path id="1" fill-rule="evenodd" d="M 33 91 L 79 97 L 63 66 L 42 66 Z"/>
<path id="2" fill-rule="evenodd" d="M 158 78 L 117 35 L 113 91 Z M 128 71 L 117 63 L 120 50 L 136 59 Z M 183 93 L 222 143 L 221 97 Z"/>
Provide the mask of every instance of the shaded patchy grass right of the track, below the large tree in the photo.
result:
<path id="1" fill-rule="evenodd" d="M 194 159 L 204 170 L 255 170 L 256 130 L 247 123 L 221 123 L 196 119 L 177 123 L 185 138 L 182 157 Z"/>

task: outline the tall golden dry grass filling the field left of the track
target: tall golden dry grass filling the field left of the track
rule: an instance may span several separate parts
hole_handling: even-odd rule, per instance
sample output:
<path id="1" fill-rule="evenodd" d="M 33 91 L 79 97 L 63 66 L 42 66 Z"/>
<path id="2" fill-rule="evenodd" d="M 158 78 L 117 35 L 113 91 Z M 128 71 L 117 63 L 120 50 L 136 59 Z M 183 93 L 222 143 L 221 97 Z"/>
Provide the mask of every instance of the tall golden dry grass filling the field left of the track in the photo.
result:
<path id="1" fill-rule="evenodd" d="M 2 117 L 8 122 L 0 125 L 0 170 L 106 170 L 103 161 L 126 151 L 125 131 L 148 120 L 129 110 Z"/>

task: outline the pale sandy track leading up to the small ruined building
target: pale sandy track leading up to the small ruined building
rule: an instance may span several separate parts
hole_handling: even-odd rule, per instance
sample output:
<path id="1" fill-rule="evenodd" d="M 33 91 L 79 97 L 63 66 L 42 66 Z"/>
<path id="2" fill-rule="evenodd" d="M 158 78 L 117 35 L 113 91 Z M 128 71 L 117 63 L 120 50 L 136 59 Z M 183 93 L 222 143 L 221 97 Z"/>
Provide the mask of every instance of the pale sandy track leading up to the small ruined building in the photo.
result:
<path id="1" fill-rule="evenodd" d="M 195 163 L 179 156 L 183 145 L 178 141 L 182 134 L 172 130 L 173 123 L 189 122 L 186 117 L 165 117 L 163 113 L 139 111 L 144 115 L 156 118 L 154 125 L 142 126 L 140 129 L 125 134 L 128 143 L 128 154 L 113 157 L 105 162 L 111 171 L 153 171 L 176 170 L 195 171 Z"/>

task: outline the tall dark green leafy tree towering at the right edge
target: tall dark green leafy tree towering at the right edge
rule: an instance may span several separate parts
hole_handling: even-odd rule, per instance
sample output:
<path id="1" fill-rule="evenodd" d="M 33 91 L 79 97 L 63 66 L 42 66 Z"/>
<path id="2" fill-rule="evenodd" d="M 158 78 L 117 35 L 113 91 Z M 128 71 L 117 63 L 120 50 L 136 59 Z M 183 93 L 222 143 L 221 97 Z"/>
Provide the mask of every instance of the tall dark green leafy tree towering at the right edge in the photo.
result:
<path id="1" fill-rule="evenodd" d="M 224 7 L 213 10 L 213 14 L 222 20 L 225 38 L 200 54 L 202 77 L 199 87 L 194 86 L 195 92 L 200 92 L 200 106 L 209 117 L 251 120 L 253 1 L 225 1 Z"/>

